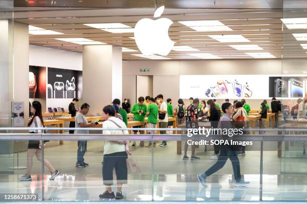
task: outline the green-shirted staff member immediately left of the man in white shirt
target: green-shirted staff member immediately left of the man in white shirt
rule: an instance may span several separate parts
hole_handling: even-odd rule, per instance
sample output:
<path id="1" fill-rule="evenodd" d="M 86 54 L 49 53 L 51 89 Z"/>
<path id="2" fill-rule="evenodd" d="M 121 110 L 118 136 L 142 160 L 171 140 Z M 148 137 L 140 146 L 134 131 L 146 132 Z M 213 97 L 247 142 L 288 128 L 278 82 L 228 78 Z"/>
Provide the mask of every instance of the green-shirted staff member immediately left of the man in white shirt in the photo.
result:
<path id="1" fill-rule="evenodd" d="M 155 103 L 155 99 L 154 98 L 149 98 L 149 105 L 148 105 L 148 110 L 147 110 L 147 127 L 148 128 L 156 128 L 157 127 L 157 123 L 158 123 L 158 112 L 159 112 L 159 107 L 157 106 L 157 104 Z M 154 135 L 155 130 L 150 130 L 150 134 Z M 149 144 L 146 145 L 145 147 L 151 147 L 152 142 L 149 141 Z M 156 141 L 154 141 L 154 147 L 156 147 Z"/>

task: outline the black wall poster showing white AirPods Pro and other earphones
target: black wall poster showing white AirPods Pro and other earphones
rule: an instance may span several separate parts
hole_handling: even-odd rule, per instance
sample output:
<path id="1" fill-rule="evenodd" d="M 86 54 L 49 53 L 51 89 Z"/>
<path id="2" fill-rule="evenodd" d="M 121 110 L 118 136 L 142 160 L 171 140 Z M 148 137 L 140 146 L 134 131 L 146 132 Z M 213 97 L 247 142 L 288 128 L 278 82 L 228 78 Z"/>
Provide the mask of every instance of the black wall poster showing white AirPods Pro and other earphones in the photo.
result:
<path id="1" fill-rule="evenodd" d="M 48 98 L 81 98 L 82 71 L 48 67 Z"/>

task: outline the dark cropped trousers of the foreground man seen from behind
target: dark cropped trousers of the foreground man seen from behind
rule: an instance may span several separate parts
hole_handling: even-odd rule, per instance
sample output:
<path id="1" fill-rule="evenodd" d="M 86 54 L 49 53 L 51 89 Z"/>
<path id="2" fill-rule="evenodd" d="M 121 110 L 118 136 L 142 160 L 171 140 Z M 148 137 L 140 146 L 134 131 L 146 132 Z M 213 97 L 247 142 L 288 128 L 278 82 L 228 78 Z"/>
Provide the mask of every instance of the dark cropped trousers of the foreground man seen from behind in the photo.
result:
<path id="1" fill-rule="evenodd" d="M 104 185 L 113 184 L 113 169 L 115 168 L 117 184 L 127 183 L 128 169 L 125 151 L 103 155 L 102 177 Z"/>

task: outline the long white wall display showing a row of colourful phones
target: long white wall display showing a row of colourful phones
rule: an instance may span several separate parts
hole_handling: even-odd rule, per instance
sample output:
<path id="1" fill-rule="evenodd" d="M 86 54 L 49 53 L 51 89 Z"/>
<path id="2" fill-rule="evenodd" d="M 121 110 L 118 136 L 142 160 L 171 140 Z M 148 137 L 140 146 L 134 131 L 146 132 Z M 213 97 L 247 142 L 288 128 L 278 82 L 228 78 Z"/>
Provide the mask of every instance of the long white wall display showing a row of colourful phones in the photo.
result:
<path id="1" fill-rule="evenodd" d="M 181 75 L 180 98 L 268 98 L 267 75 Z"/>

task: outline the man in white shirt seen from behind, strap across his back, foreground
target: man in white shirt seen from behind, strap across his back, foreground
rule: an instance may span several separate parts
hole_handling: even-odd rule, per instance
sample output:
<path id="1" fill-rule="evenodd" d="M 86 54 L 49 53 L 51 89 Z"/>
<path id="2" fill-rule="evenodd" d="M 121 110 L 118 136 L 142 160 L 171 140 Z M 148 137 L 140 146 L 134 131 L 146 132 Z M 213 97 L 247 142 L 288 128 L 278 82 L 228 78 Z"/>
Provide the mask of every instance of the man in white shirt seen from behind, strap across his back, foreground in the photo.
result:
<path id="1" fill-rule="evenodd" d="M 102 110 L 102 116 L 106 119 L 103 122 L 102 128 L 127 128 L 126 124 L 115 116 L 115 108 L 112 105 L 107 105 Z M 103 130 L 104 135 L 122 135 L 129 134 L 128 130 Z M 102 177 L 103 184 L 106 185 L 106 190 L 99 195 L 100 198 L 105 199 L 122 199 L 121 192 L 122 184 L 127 183 L 127 153 L 129 152 L 128 141 L 110 141 L 104 143 L 103 149 L 103 166 Z M 115 168 L 117 180 L 116 196 L 112 191 L 113 184 L 113 169 Z"/>

